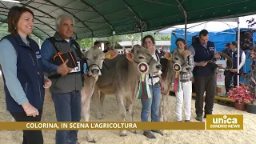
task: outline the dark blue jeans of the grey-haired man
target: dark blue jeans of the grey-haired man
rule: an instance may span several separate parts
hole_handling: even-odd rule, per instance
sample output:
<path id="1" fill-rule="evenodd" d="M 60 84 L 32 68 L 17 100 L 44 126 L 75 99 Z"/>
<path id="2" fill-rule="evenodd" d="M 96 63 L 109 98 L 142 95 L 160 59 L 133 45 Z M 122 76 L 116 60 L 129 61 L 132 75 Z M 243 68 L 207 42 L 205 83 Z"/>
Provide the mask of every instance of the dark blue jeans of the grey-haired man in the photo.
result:
<path id="1" fill-rule="evenodd" d="M 58 122 L 80 122 L 81 91 L 70 93 L 52 93 Z M 56 144 L 76 144 L 78 130 L 56 130 Z"/>

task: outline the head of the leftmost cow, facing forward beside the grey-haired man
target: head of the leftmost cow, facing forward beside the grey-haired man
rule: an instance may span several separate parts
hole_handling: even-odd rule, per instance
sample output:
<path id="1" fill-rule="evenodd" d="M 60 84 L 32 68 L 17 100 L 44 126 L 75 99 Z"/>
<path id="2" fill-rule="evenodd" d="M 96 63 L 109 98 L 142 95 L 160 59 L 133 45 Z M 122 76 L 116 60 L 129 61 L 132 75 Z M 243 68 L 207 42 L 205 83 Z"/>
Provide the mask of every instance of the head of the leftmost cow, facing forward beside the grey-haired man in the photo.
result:
<path id="1" fill-rule="evenodd" d="M 104 59 L 113 59 L 118 55 L 118 52 L 110 50 L 105 54 L 102 50 L 92 47 L 83 55 L 86 59 L 87 75 L 97 77 L 98 75 L 102 75 L 101 69 Z"/>

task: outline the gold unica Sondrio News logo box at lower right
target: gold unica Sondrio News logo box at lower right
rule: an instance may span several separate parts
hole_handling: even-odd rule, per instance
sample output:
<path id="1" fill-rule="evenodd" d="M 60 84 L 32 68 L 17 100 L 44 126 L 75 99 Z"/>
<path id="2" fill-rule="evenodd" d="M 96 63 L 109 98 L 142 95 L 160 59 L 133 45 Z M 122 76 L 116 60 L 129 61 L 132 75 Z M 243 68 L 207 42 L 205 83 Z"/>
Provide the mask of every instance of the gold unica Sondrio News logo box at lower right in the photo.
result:
<path id="1" fill-rule="evenodd" d="M 243 115 L 242 114 L 207 115 L 206 130 L 243 130 Z"/>

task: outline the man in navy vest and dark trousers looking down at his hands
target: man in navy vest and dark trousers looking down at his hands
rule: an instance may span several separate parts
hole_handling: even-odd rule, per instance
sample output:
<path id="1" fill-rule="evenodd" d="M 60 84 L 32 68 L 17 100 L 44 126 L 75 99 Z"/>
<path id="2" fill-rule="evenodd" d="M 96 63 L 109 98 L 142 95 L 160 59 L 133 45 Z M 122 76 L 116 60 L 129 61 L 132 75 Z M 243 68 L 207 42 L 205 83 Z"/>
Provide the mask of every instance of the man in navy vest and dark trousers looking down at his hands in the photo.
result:
<path id="1" fill-rule="evenodd" d="M 209 41 L 209 33 L 207 30 L 201 30 L 198 41 L 190 45 L 189 50 L 194 55 L 194 89 L 196 93 L 195 109 L 196 120 L 202 122 L 203 114 L 203 95 L 206 92 L 205 114 L 212 114 L 214 108 L 214 96 L 216 93 L 216 67 L 209 61 L 215 62 L 220 58 L 216 53 L 214 42 Z"/>

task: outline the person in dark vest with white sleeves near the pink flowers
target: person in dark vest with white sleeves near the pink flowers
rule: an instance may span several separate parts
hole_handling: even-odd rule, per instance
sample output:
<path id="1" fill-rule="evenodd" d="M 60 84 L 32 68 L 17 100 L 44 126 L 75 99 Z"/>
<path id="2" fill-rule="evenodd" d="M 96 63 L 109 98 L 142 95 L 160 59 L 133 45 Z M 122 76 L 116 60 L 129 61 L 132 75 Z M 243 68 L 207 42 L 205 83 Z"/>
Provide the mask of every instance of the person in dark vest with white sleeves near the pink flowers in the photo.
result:
<path id="1" fill-rule="evenodd" d="M 227 92 L 230 90 L 230 84 L 231 84 L 230 82 L 231 82 L 232 78 L 234 79 L 234 87 L 238 86 L 238 84 L 237 84 L 238 83 L 237 70 L 239 70 L 239 75 L 242 75 L 244 73 L 243 65 L 246 62 L 246 54 L 244 53 L 243 50 L 239 51 L 240 54 L 238 56 L 238 42 L 235 42 L 235 41 L 231 42 L 230 50 L 232 50 L 230 52 L 230 58 L 232 58 L 233 66 L 232 66 L 232 70 L 226 71 L 226 74 L 225 74 L 226 95 L 228 95 Z M 239 57 L 239 68 L 237 66 L 238 57 Z"/>

